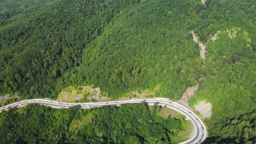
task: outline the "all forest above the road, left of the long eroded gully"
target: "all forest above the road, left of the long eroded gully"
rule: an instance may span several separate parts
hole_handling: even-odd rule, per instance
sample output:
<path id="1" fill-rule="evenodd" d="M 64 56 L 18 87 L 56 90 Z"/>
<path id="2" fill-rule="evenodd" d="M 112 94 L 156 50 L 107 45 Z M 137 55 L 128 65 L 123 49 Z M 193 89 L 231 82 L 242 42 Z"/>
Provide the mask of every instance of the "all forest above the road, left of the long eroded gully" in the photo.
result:
<path id="1" fill-rule="evenodd" d="M 66 86 L 93 84 L 116 98 L 162 84 L 161 95 L 178 99 L 200 76 L 198 46 L 181 26 L 189 1 L 138 2 L 56 0 L 16 11 L 5 3 L 0 92 L 56 98 Z"/>

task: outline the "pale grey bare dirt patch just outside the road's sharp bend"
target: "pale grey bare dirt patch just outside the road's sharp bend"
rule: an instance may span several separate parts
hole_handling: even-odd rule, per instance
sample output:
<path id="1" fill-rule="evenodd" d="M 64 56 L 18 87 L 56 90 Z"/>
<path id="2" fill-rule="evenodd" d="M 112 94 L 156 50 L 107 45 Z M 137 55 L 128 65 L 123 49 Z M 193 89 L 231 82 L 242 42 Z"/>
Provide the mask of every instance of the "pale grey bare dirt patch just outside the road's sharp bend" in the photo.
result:
<path id="1" fill-rule="evenodd" d="M 203 119 L 210 118 L 212 115 L 212 105 L 210 102 L 206 103 L 206 101 L 200 101 L 199 104 L 195 106 L 196 111 L 199 111 Z"/>

